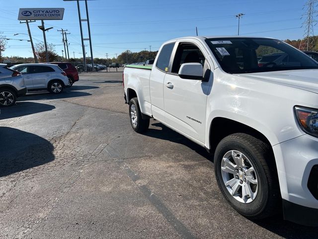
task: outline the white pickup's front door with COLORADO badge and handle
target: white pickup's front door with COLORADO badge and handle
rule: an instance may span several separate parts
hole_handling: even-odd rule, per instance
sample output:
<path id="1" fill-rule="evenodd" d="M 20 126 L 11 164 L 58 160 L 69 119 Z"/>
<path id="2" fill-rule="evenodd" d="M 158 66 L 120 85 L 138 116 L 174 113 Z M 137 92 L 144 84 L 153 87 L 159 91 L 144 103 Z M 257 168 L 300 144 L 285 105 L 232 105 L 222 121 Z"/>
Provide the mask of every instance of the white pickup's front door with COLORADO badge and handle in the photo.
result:
<path id="1" fill-rule="evenodd" d="M 183 63 L 201 63 L 205 70 L 210 67 L 196 44 L 177 44 L 171 71 L 166 74 L 163 82 L 165 122 L 204 143 L 210 84 L 201 80 L 182 79 L 178 72 Z"/>

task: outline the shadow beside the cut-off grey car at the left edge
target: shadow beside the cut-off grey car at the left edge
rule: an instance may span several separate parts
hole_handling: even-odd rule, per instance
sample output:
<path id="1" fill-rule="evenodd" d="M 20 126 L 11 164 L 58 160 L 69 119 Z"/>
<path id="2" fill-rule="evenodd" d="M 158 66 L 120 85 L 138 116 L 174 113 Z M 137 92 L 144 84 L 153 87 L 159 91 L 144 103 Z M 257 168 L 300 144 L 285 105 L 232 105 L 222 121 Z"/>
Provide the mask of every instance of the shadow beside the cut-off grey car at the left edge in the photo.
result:
<path id="1" fill-rule="evenodd" d="M 32 115 L 45 111 L 52 111 L 55 106 L 34 102 L 17 102 L 15 106 L 1 108 L 0 119 L 10 119 L 15 117 Z M 1 136 L 0 136 L 1 137 Z"/>

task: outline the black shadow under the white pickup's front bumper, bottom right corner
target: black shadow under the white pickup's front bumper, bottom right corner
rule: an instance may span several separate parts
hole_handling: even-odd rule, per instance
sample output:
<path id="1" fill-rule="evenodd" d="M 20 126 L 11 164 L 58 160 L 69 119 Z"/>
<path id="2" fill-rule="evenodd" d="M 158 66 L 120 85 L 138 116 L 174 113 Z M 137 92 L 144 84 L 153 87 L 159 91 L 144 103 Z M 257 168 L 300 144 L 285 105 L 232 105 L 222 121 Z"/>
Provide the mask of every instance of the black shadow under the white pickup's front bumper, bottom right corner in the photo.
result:
<path id="1" fill-rule="evenodd" d="M 255 224 L 286 239 L 318 238 L 318 227 L 306 227 L 283 220 L 283 215 L 255 221 Z"/>

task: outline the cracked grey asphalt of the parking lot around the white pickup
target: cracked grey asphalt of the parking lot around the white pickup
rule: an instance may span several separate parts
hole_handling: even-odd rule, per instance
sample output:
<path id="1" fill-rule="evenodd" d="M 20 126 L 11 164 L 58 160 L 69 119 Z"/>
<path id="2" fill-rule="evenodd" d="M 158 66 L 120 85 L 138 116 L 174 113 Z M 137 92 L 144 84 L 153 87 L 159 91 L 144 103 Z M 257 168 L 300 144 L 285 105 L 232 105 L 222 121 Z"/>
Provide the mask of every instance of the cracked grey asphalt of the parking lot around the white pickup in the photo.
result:
<path id="1" fill-rule="evenodd" d="M 0 238 L 318 238 L 281 215 L 240 216 L 212 156 L 158 121 L 135 133 L 121 75 L 80 74 L 1 109 Z"/>

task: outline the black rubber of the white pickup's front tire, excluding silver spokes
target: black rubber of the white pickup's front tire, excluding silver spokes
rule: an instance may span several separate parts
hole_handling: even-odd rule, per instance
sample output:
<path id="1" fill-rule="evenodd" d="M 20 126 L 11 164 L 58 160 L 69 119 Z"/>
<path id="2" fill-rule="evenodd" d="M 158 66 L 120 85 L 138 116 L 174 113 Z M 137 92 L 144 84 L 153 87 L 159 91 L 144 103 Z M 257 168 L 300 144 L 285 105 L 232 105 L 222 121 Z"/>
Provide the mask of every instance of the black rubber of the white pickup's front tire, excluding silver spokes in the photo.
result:
<path id="1" fill-rule="evenodd" d="M 245 166 L 243 168 L 248 168 L 248 166 L 246 165 L 248 165 L 249 163 L 251 164 L 250 167 L 254 168 L 253 175 L 256 175 L 257 190 L 255 190 L 256 184 L 250 184 L 249 181 L 244 178 L 244 175 L 245 177 L 247 177 L 246 174 L 241 174 L 242 172 L 244 172 L 245 169 L 243 169 L 242 171 L 240 171 L 241 169 L 239 169 L 239 176 L 233 175 L 234 177 L 237 177 L 236 179 L 239 180 L 239 184 L 241 184 L 237 184 L 241 187 L 241 189 L 239 189 L 241 191 L 238 190 L 238 192 L 235 194 L 237 198 L 243 195 L 242 189 L 243 187 L 245 187 L 244 185 L 248 183 L 249 185 L 252 185 L 249 186 L 250 189 L 253 187 L 255 192 L 257 191 L 256 196 L 253 196 L 255 198 L 249 203 L 247 203 L 247 200 L 252 200 L 249 195 L 241 197 L 244 198 L 246 202 L 240 202 L 234 196 L 232 196 L 229 190 L 233 191 L 232 188 L 234 188 L 235 185 L 232 184 L 232 186 L 228 185 L 227 187 L 225 185 L 225 181 L 227 181 L 228 179 L 224 179 L 222 176 L 222 172 L 224 174 L 227 174 L 225 170 L 221 169 L 223 157 L 229 155 L 229 152 L 231 152 L 232 150 L 235 150 L 235 154 L 238 151 L 247 158 L 246 160 L 246 158 L 243 157 L 246 160 L 243 160 L 243 162 L 245 163 Z M 234 159 L 234 157 L 232 158 Z M 237 160 L 239 159 L 237 158 Z M 233 160 L 233 162 L 235 161 Z M 279 207 L 281 205 L 281 196 L 275 159 L 272 151 L 270 150 L 270 145 L 248 134 L 231 134 L 222 139 L 221 142 L 218 144 L 214 155 L 214 166 L 219 188 L 221 189 L 224 197 L 228 200 L 230 205 L 235 210 L 237 210 L 239 214 L 251 220 L 259 220 L 273 216 L 274 214 L 279 212 Z M 231 175 L 231 173 L 228 175 Z M 235 180 L 234 177 L 230 177 L 230 179 Z M 255 179 L 255 176 L 253 177 Z"/>

